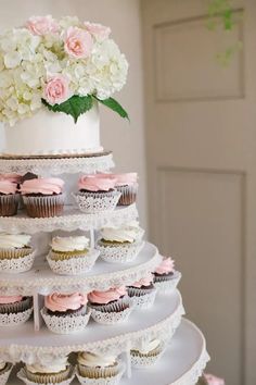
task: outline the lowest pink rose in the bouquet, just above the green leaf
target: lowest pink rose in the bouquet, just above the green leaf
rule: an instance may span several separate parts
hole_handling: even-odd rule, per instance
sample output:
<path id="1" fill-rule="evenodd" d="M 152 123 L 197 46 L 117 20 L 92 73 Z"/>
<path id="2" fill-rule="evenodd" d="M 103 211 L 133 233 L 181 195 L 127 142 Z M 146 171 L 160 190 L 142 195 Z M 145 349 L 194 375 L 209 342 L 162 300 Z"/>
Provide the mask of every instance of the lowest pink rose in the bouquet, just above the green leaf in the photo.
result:
<path id="1" fill-rule="evenodd" d="M 61 104 L 63 101 L 69 99 L 69 82 L 63 75 L 51 77 L 43 90 L 43 97 L 50 104 Z"/>

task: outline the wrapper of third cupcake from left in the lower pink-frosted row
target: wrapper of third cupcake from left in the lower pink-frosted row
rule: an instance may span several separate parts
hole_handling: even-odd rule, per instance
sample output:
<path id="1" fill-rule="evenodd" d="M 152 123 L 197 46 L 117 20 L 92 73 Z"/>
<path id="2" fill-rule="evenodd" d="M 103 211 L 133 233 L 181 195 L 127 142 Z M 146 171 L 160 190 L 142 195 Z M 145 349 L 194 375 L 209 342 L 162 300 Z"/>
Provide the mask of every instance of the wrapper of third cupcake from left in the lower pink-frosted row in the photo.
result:
<path id="1" fill-rule="evenodd" d="M 93 305 L 90 303 L 89 307 L 91 308 L 92 319 L 104 325 L 126 321 L 133 310 L 133 306 L 128 297 L 105 306 L 93 307 Z"/>

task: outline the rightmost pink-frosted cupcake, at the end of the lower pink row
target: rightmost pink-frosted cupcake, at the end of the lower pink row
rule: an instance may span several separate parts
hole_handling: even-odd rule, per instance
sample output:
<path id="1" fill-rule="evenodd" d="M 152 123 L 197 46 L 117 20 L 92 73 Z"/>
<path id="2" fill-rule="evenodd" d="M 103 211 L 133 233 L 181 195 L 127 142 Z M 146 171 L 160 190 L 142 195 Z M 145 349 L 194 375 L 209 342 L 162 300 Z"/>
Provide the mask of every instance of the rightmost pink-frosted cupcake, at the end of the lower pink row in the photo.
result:
<path id="1" fill-rule="evenodd" d="M 155 269 L 154 285 L 161 291 L 169 291 L 177 287 L 181 274 L 175 270 L 175 261 L 171 258 L 162 259 L 161 264 Z"/>

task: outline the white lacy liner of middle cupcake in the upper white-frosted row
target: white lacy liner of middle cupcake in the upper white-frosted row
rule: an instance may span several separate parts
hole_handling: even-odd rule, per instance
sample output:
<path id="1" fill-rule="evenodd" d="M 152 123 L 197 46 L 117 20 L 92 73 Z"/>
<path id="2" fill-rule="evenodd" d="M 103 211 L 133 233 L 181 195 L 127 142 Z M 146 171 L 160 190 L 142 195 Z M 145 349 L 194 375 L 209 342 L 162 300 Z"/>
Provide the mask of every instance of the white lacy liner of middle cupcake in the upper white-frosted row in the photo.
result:
<path id="1" fill-rule="evenodd" d="M 89 272 L 98 257 L 100 256 L 99 250 L 90 250 L 87 254 L 82 257 L 68 258 L 66 260 L 52 260 L 51 252 L 47 256 L 47 261 L 51 270 L 55 274 L 61 275 L 78 275 Z"/>

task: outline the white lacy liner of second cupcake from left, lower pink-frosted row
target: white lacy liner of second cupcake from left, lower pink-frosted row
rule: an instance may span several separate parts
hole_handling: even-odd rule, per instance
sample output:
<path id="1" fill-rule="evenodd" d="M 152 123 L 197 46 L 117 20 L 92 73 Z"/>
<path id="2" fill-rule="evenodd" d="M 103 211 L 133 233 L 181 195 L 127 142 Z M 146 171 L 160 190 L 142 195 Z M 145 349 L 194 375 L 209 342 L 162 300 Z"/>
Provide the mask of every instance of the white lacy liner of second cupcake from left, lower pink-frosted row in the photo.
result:
<path id="1" fill-rule="evenodd" d="M 41 315 L 49 331 L 56 334 L 71 334 L 74 332 L 84 331 L 89 322 L 91 311 L 88 308 L 86 314 L 56 316 L 48 314 L 46 308 L 41 309 Z"/>

